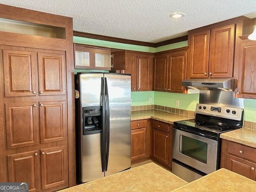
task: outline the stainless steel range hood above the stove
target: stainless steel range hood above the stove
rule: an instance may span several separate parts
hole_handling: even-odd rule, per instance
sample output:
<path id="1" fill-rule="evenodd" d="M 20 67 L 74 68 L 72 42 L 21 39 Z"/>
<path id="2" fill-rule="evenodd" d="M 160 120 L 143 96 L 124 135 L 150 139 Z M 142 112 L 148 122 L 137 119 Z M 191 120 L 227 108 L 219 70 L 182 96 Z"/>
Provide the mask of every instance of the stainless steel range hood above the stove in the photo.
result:
<path id="1" fill-rule="evenodd" d="M 182 86 L 198 90 L 234 91 L 234 79 L 186 79 Z"/>

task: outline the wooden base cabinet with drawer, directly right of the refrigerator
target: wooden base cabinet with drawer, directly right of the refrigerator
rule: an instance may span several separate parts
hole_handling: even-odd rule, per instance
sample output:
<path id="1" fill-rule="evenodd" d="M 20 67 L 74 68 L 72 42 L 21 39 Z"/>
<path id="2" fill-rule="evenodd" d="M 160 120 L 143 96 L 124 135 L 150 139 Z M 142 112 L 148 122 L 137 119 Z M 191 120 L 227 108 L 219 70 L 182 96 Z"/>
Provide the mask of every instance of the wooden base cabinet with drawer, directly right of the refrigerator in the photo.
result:
<path id="1" fill-rule="evenodd" d="M 131 122 L 131 160 L 150 156 L 150 120 Z"/>

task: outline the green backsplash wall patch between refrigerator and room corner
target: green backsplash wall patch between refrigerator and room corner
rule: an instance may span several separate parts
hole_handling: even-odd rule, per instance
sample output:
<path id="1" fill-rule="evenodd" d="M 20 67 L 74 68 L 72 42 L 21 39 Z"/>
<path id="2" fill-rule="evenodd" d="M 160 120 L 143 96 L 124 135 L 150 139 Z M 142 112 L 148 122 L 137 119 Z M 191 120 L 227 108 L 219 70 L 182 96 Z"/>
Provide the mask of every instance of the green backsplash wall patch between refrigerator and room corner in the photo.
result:
<path id="1" fill-rule="evenodd" d="M 149 102 L 152 98 L 152 103 Z M 154 91 L 138 91 L 131 93 L 132 106 L 154 105 Z"/>

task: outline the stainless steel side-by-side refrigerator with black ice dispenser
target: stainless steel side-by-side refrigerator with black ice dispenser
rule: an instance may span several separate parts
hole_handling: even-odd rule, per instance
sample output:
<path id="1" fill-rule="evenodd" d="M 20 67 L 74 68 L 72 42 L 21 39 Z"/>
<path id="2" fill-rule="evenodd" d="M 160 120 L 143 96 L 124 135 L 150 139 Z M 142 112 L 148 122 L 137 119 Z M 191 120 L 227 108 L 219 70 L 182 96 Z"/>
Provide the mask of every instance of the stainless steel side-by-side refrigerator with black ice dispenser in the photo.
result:
<path id="1" fill-rule="evenodd" d="M 78 180 L 88 182 L 131 167 L 131 77 L 76 76 Z"/>

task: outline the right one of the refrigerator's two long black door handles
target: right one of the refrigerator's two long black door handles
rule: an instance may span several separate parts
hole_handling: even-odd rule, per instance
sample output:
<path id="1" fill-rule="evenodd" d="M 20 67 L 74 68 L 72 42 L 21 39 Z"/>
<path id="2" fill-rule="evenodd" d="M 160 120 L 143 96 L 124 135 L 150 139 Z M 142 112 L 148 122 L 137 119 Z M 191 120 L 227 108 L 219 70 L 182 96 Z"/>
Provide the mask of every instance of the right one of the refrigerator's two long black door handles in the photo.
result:
<path id="1" fill-rule="evenodd" d="M 108 170 L 108 154 L 109 154 L 109 99 L 108 99 L 108 83 L 107 83 L 107 78 L 105 77 L 105 95 L 106 95 L 106 166 L 105 166 L 105 171 Z"/>

